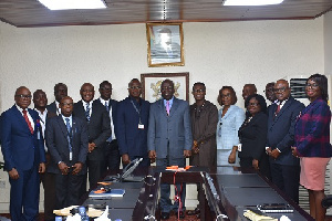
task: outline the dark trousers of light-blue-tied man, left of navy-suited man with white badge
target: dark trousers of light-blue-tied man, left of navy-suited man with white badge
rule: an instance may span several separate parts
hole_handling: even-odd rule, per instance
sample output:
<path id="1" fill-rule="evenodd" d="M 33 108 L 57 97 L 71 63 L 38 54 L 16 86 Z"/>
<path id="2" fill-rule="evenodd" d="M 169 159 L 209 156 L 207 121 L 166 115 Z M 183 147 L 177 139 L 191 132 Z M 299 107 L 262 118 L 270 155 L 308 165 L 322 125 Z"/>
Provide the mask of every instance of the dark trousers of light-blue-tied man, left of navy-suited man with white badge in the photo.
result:
<path id="1" fill-rule="evenodd" d="M 121 157 L 116 139 L 113 139 L 111 143 L 106 141 L 105 152 L 106 169 L 117 172 L 120 170 Z"/>

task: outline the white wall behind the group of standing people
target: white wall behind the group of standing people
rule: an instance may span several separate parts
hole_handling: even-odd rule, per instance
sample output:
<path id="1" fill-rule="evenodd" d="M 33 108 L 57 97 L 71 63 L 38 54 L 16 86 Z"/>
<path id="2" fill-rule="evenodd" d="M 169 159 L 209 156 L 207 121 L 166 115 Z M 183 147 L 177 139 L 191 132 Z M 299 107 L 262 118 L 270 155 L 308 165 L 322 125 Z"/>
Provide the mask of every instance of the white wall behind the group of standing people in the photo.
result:
<path id="1" fill-rule="evenodd" d="M 186 63 L 179 67 L 147 66 L 145 24 L 18 29 L 0 22 L 0 110 L 13 104 L 21 85 L 44 90 L 51 103 L 58 82 L 77 101 L 84 82 L 97 87 L 108 80 L 113 97 L 123 99 L 131 78 L 160 72 L 189 72 L 190 87 L 205 82 L 214 103 L 219 88 L 231 85 L 242 106 L 246 83 L 262 93 L 266 83 L 286 75 L 323 73 L 323 21 L 184 23 Z M 0 178 L 7 173 L 0 171 Z M 0 189 L 0 212 L 9 201 L 7 187 Z"/>

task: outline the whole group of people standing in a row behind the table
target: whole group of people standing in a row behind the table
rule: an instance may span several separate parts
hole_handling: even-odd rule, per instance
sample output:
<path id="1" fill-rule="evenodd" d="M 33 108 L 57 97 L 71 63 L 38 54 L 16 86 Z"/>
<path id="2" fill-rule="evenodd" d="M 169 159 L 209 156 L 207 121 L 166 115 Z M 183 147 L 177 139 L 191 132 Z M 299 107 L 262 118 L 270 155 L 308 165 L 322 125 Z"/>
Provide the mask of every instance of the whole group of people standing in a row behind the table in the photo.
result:
<path id="1" fill-rule="evenodd" d="M 39 208 L 39 183 L 44 187 L 45 220 L 54 220 L 53 209 L 76 204 L 103 175 L 118 170 L 136 158 L 139 166 L 152 162 L 167 167 L 217 166 L 227 172 L 258 170 L 294 202 L 299 202 L 299 183 L 309 190 L 310 213 L 324 220 L 326 165 L 332 156 L 330 145 L 331 112 L 328 106 L 328 81 L 324 75 L 309 77 L 305 92 L 310 105 L 294 99 L 286 80 L 266 86 L 267 102 L 257 94 L 255 84 L 242 90 L 245 107 L 236 106 L 231 86 L 222 86 L 217 98 L 221 108 L 206 101 L 206 86 L 195 83 L 195 103 L 189 106 L 176 98 L 174 82 L 163 81 L 162 99 L 144 101 L 137 78 L 128 83 L 128 97 L 111 98 L 112 84 L 81 86 L 81 101 L 68 96 L 63 83 L 54 86 L 55 101 L 48 105 L 42 90 L 25 86 L 15 91 L 15 104 L 1 115 L 1 150 L 11 183 L 12 220 L 35 220 Z M 34 109 L 28 108 L 34 104 Z M 300 166 L 301 165 L 301 166 Z M 87 176 L 89 173 L 89 176 Z M 197 187 L 198 194 L 201 187 Z M 176 200 L 169 199 L 170 187 L 160 185 L 162 219 L 170 211 L 185 217 L 186 186 L 175 186 Z M 22 210 L 23 208 L 23 210 Z M 199 207 L 191 211 L 199 214 Z"/>

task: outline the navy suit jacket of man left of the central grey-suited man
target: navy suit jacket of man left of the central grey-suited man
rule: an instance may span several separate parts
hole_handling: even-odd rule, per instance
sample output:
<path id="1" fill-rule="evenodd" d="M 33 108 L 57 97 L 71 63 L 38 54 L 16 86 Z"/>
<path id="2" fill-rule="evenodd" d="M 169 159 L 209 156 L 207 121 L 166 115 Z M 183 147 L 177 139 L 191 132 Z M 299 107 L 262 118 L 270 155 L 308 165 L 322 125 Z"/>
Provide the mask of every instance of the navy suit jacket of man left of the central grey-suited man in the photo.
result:
<path id="1" fill-rule="evenodd" d="M 139 109 L 139 115 L 132 102 Z M 128 154 L 131 158 L 138 156 L 147 157 L 148 113 L 149 103 L 144 99 L 141 99 L 141 104 L 138 104 L 136 99 L 127 97 L 118 103 L 115 134 L 121 155 Z M 138 128 L 139 116 L 144 129 Z"/>

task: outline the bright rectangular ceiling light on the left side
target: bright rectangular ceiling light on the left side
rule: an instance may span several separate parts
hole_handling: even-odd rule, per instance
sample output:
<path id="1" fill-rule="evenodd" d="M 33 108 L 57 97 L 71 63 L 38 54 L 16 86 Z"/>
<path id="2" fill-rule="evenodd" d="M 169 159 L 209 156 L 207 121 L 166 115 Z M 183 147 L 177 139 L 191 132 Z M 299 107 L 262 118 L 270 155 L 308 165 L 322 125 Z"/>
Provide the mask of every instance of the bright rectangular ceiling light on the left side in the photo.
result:
<path id="1" fill-rule="evenodd" d="M 104 9 L 103 0 L 38 0 L 50 10 L 66 9 Z"/>

